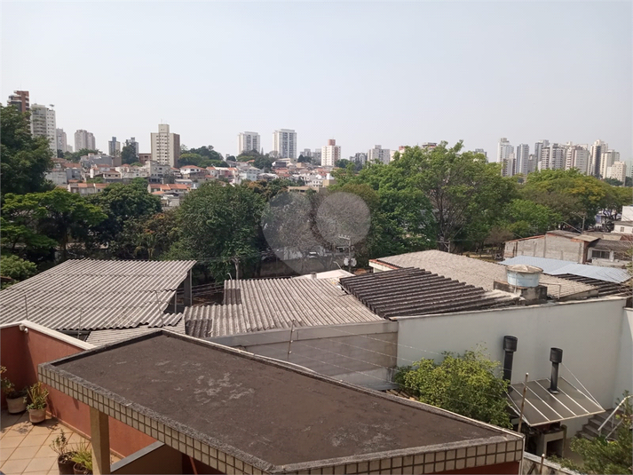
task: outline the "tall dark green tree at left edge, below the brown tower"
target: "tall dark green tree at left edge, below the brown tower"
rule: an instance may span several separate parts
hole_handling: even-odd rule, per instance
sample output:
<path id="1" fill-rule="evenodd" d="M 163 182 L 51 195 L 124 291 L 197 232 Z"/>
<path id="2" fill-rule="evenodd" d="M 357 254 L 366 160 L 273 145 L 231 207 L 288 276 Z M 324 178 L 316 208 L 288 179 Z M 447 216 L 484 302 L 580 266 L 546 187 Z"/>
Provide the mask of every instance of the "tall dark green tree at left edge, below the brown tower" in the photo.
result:
<path id="1" fill-rule="evenodd" d="M 48 139 L 33 137 L 28 114 L 16 107 L 0 106 L 0 179 L 2 196 L 51 190 L 44 178 L 52 168 L 52 151 Z"/>

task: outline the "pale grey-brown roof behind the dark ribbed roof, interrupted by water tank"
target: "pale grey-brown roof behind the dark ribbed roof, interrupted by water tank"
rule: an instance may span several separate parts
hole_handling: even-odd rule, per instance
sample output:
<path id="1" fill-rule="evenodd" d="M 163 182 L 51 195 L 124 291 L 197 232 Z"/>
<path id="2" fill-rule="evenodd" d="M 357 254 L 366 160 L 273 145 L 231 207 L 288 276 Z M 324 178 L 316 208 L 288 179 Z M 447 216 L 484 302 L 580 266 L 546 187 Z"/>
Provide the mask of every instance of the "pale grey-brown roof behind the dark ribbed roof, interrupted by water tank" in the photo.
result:
<path id="1" fill-rule="evenodd" d="M 418 269 L 438 273 L 449 279 L 465 282 L 487 290 L 494 290 L 495 281 L 507 281 L 504 265 L 450 254 L 441 250 L 409 252 L 398 256 L 381 257 L 376 259 L 376 261 L 396 267 L 417 267 Z M 547 293 L 552 298 L 571 298 L 576 294 L 595 290 L 589 285 L 566 281 L 551 275 L 542 275 L 541 283 L 548 288 Z M 559 289 L 560 295 L 558 295 Z"/>

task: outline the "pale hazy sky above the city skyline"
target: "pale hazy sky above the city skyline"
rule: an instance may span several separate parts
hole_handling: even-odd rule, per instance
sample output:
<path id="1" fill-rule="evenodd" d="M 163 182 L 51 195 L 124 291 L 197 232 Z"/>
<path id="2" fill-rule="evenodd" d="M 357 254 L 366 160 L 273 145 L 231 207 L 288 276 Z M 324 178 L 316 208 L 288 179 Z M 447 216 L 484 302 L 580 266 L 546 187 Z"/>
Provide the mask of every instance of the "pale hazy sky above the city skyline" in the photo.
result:
<path id="1" fill-rule="evenodd" d="M 2 4 L 2 99 L 30 91 L 57 126 L 150 151 L 234 154 L 240 131 L 297 131 L 343 156 L 464 140 L 605 140 L 633 158 L 631 3 Z"/>

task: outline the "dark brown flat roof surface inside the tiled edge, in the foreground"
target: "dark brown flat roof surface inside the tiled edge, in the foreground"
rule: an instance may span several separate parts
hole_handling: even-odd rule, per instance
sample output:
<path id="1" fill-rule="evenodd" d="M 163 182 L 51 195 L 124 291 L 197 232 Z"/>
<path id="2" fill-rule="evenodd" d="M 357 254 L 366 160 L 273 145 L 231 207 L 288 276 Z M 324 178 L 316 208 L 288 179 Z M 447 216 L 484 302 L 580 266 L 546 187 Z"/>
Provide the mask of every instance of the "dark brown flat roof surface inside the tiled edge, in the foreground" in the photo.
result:
<path id="1" fill-rule="evenodd" d="M 278 466 L 510 435 L 168 332 L 74 355 L 52 367 Z"/>

